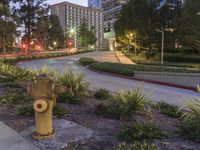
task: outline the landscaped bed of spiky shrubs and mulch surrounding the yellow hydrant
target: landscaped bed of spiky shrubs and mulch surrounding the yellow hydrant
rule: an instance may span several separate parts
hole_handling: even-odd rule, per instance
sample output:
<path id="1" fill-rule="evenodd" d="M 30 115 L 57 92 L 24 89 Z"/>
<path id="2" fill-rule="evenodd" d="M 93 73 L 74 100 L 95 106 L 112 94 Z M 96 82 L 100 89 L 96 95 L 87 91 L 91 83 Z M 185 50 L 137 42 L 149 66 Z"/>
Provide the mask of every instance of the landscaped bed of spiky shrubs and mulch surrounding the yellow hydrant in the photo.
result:
<path id="1" fill-rule="evenodd" d="M 0 91 L 3 91 L 0 120 L 17 132 L 34 125 L 33 99 L 26 94 L 24 86 L 31 80 L 27 73 L 33 76 L 46 73 L 53 77 L 47 69 L 34 73 L 11 66 L 7 69 L 4 66 L 0 73 Z M 142 89 L 116 94 L 105 89 L 89 91 L 84 76 L 71 71 L 64 73 L 58 82 L 68 90 L 57 98 L 54 119 L 73 121 L 105 139 L 73 143 L 75 149 L 198 150 L 200 147 L 199 101 L 188 113 L 177 106 L 150 102 Z"/>

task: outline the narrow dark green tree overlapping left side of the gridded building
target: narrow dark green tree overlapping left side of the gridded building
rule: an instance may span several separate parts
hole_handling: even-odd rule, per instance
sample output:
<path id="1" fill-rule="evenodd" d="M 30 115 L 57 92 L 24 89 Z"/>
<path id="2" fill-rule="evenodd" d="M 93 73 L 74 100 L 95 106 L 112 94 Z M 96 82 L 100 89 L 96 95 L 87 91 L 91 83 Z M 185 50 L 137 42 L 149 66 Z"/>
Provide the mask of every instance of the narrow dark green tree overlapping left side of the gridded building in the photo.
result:
<path id="1" fill-rule="evenodd" d="M 58 47 L 63 47 L 65 36 L 59 18 L 56 15 L 51 15 L 48 26 L 50 45 L 53 46 L 53 43 L 56 42 Z"/>

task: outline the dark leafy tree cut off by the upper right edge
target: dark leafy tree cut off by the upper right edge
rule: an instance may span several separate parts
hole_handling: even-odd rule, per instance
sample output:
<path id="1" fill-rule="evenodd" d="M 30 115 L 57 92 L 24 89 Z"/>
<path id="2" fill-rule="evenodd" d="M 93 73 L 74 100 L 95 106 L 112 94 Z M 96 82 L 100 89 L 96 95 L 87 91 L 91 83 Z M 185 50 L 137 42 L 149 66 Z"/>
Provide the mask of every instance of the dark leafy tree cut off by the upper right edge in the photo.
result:
<path id="1" fill-rule="evenodd" d="M 185 0 L 183 8 L 175 18 L 177 38 L 186 49 L 200 54 L 200 1 Z"/>

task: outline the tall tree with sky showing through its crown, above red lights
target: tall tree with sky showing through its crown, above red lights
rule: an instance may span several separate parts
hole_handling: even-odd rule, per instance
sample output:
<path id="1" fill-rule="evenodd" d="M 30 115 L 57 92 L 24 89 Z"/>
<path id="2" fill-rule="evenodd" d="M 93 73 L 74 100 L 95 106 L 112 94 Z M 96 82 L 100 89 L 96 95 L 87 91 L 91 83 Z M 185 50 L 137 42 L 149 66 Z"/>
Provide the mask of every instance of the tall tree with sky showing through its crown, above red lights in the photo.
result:
<path id="1" fill-rule="evenodd" d="M 14 3 L 19 5 L 19 8 L 15 8 L 15 10 L 19 15 L 21 23 L 25 26 L 28 49 L 30 47 L 31 34 L 35 28 L 37 19 L 40 18 L 41 15 L 43 16 L 48 9 L 48 5 L 45 1 L 46 0 L 13 0 Z"/>

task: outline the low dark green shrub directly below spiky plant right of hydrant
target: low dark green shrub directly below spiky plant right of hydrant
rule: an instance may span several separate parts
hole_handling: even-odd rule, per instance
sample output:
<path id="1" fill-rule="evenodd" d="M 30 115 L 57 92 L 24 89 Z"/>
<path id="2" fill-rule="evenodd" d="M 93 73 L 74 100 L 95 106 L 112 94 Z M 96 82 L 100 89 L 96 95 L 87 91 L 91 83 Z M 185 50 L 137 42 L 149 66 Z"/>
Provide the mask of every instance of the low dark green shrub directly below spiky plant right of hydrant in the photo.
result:
<path id="1" fill-rule="evenodd" d="M 57 101 L 60 103 L 67 103 L 67 104 L 83 104 L 83 100 L 75 95 L 71 95 L 70 93 L 62 93 L 59 94 L 57 97 Z"/>

